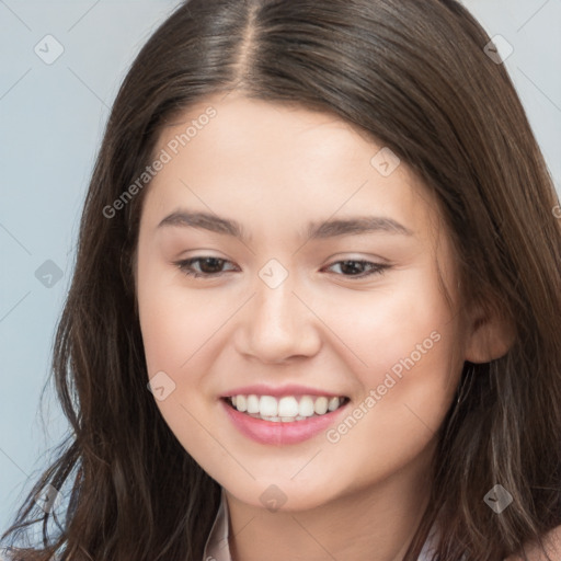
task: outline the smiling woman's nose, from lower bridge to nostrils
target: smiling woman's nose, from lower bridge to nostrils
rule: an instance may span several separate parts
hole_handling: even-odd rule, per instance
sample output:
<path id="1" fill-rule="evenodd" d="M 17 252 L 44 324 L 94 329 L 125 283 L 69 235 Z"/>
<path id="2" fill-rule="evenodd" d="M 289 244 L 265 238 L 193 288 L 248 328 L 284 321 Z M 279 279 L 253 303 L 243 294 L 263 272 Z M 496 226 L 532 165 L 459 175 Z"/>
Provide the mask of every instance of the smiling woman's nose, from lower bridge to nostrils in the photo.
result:
<path id="1" fill-rule="evenodd" d="M 298 293 L 290 275 L 274 288 L 257 279 L 238 325 L 238 352 L 266 364 L 316 355 L 321 347 L 321 321 Z"/>

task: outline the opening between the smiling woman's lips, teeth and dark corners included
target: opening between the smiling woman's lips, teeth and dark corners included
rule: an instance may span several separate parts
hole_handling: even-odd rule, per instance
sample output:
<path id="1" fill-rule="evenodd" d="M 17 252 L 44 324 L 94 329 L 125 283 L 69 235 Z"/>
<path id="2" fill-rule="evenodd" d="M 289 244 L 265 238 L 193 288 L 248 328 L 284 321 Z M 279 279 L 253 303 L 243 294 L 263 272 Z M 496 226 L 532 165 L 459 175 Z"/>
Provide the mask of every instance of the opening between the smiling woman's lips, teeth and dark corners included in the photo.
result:
<path id="1" fill-rule="evenodd" d="M 321 417 L 346 405 L 346 396 L 228 396 L 221 400 L 234 411 L 273 423 L 298 423 Z"/>

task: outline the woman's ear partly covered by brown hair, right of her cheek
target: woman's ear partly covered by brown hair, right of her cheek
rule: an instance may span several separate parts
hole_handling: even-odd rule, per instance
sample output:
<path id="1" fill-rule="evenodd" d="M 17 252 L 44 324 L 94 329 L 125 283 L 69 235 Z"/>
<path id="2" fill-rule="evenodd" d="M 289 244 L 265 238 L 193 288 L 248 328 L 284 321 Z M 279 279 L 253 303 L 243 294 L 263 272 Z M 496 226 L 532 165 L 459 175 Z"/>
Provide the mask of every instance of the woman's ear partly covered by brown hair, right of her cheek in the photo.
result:
<path id="1" fill-rule="evenodd" d="M 469 320 L 466 356 L 470 363 L 489 363 L 504 356 L 515 339 L 514 327 L 497 311 L 476 307 Z"/>

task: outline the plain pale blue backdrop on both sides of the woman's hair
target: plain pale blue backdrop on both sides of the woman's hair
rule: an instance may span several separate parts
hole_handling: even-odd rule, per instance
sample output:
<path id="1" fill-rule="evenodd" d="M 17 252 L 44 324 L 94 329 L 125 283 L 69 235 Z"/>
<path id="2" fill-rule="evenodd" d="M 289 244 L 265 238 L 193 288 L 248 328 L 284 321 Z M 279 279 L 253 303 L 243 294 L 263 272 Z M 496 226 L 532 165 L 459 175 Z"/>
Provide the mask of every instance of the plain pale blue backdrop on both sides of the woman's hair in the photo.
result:
<path id="1" fill-rule="evenodd" d="M 506 67 L 559 192 L 561 0 L 463 3 L 514 47 Z M 66 432 L 50 388 L 42 424 L 39 393 L 108 107 L 133 58 L 176 4 L 0 0 L 0 534 Z M 65 48 L 53 65 L 34 53 L 47 34 Z M 62 272 L 50 288 L 35 277 L 47 260 Z"/>

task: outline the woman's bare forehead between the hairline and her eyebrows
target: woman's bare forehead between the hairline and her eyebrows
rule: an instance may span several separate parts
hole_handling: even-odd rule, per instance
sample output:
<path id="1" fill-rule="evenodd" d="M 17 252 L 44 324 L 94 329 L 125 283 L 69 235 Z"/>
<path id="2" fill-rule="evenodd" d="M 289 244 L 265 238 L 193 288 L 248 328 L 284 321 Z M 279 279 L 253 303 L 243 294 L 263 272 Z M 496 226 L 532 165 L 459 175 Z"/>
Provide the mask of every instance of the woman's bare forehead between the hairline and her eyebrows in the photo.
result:
<path id="1" fill-rule="evenodd" d="M 274 216 L 278 227 L 298 217 L 381 214 L 412 230 L 436 213 L 427 190 L 387 147 L 333 114 L 301 106 L 208 98 L 161 129 L 154 153 L 162 150 L 170 159 L 146 202 L 161 211 L 193 203 L 238 210 L 241 221 Z"/>

